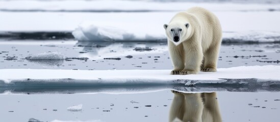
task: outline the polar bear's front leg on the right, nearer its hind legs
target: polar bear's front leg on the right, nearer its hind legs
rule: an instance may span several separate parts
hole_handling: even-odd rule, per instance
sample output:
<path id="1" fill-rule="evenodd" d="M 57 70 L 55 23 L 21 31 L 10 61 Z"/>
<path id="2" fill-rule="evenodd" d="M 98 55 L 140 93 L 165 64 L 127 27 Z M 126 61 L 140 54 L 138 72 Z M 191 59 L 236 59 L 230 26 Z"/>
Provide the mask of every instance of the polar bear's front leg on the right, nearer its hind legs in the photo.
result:
<path id="1" fill-rule="evenodd" d="M 185 51 L 185 68 L 180 71 L 180 74 L 197 74 L 200 71 L 200 65 L 203 59 L 202 47 L 199 42 L 184 42 L 183 46 Z"/>

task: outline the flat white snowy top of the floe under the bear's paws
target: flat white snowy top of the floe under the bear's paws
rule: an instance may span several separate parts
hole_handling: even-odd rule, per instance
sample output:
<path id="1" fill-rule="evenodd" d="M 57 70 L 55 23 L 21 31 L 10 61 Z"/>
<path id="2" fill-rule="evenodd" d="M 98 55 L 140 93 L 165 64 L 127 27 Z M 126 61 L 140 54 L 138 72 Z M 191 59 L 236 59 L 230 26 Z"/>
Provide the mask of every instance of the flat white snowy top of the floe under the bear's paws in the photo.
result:
<path id="1" fill-rule="evenodd" d="M 195 75 L 169 75 L 171 70 L 47 70 L 47 69 L 1 69 L 2 84 L 25 82 L 33 79 L 49 79 L 44 82 L 56 82 L 63 78 L 76 79 L 77 83 L 104 84 L 141 84 L 141 83 L 220 83 L 224 79 L 258 79 L 258 82 L 280 81 L 280 66 L 241 66 L 220 68 L 217 72 L 199 72 Z M 110 74 L 110 75 L 108 75 Z M 80 81 L 80 80 L 81 81 Z M 19 80 L 19 81 L 17 81 Z M 68 83 L 60 81 L 61 83 Z M 249 83 L 249 82 L 247 82 Z M 0 81 L 1 85 L 1 81 Z"/>

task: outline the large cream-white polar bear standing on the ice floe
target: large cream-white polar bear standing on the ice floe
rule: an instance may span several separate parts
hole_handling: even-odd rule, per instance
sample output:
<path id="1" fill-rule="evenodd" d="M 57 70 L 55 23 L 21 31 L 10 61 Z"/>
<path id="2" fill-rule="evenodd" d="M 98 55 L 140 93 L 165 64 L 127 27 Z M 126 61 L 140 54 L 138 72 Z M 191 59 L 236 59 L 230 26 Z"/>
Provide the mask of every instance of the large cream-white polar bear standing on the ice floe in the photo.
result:
<path id="1" fill-rule="evenodd" d="M 164 28 L 174 66 L 170 74 L 217 71 L 222 29 L 213 13 L 193 7 L 177 13 Z"/>

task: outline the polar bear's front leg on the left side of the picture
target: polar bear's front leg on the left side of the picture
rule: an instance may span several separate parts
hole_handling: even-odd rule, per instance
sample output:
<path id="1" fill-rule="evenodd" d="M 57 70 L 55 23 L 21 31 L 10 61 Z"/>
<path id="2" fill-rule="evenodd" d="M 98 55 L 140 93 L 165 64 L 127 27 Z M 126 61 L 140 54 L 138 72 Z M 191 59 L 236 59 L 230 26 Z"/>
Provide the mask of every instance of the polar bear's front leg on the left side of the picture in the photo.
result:
<path id="1" fill-rule="evenodd" d="M 172 42 L 170 42 L 168 40 L 168 48 L 169 48 L 169 54 L 172 60 L 172 64 L 174 67 L 174 70 L 171 71 L 171 75 L 178 75 L 180 73 L 181 70 L 184 69 L 185 65 L 184 65 L 184 58 L 183 53 L 184 53 L 184 49 L 183 49 L 183 45 L 177 45 L 175 46 Z"/>

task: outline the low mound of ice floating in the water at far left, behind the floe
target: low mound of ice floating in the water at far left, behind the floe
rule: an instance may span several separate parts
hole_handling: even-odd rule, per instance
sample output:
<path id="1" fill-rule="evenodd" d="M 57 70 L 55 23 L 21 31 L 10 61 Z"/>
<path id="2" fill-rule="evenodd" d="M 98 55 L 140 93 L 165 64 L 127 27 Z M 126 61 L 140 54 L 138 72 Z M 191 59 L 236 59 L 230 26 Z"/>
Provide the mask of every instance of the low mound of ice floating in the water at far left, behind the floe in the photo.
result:
<path id="1" fill-rule="evenodd" d="M 28 60 L 64 60 L 65 58 L 60 52 L 44 52 L 26 57 Z"/>

